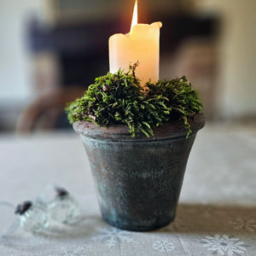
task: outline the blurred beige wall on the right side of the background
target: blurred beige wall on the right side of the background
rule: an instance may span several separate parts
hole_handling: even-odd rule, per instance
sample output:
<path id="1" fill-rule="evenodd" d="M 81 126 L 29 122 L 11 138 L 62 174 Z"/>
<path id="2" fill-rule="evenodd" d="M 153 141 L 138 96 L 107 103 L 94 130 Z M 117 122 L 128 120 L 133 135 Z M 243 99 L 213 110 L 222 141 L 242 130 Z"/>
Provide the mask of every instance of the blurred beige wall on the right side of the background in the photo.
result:
<path id="1" fill-rule="evenodd" d="M 222 18 L 219 48 L 219 116 L 256 116 L 256 1 L 196 0 L 201 12 Z"/>

